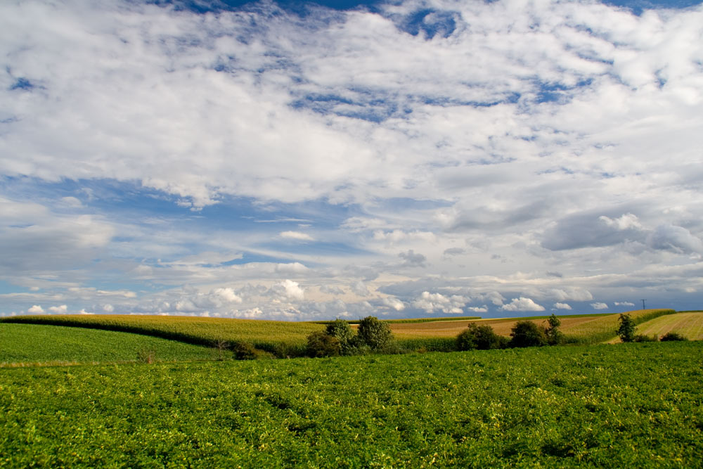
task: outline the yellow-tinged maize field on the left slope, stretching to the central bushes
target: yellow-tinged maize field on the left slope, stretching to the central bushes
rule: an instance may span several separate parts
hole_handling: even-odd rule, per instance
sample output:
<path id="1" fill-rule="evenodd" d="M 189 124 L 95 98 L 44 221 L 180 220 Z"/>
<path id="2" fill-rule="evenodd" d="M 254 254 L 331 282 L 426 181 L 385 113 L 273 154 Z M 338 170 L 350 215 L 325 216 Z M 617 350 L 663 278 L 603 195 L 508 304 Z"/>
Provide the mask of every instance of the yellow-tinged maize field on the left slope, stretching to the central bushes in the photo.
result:
<path id="1" fill-rule="evenodd" d="M 127 314 L 14 316 L 3 321 L 119 330 L 198 345 L 212 346 L 218 341 L 250 342 L 269 352 L 283 347 L 283 355 L 285 349 L 304 347 L 310 333 L 324 329 L 321 324 L 314 323 Z"/>

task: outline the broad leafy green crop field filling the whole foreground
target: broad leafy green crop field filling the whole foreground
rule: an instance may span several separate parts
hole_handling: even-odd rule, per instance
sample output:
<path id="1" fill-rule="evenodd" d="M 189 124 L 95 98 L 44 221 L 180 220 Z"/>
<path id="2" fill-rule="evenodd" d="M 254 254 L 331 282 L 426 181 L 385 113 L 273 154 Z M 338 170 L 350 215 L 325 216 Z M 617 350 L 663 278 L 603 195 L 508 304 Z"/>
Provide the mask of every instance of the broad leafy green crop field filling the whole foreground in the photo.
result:
<path id="1" fill-rule="evenodd" d="M 701 467 L 703 343 L 0 369 L 0 466 Z"/>

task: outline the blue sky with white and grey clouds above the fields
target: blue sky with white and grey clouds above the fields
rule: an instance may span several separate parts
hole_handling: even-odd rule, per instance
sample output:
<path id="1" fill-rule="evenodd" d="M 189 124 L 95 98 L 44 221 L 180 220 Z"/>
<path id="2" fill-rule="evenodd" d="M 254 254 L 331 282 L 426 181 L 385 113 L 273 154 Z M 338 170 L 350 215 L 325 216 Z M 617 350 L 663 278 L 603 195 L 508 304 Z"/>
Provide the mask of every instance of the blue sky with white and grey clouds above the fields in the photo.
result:
<path id="1" fill-rule="evenodd" d="M 0 315 L 703 308 L 699 1 L 0 3 Z"/>

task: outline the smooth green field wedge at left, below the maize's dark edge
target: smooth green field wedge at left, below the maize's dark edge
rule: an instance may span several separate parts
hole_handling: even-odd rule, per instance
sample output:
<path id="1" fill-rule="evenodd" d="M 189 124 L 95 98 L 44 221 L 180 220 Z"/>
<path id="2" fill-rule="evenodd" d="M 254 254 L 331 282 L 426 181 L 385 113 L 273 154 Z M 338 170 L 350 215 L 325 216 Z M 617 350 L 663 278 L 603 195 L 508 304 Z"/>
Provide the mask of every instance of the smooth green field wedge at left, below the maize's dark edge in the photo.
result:
<path id="1" fill-rule="evenodd" d="M 231 356 L 231 352 L 224 352 Z M 148 335 L 0 323 L 0 366 L 86 364 L 110 361 L 212 360 L 219 352 L 207 347 Z"/>

